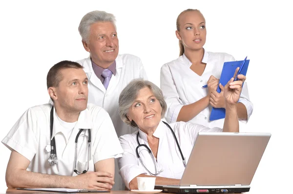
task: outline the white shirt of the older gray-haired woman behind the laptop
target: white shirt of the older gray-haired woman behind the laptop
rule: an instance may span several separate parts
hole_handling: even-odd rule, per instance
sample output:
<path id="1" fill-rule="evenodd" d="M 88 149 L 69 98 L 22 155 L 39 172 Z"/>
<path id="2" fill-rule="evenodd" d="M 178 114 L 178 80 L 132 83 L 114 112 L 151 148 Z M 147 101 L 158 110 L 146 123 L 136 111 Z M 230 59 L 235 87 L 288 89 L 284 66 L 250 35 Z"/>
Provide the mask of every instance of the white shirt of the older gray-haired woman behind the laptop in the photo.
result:
<path id="1" fill-rule="evenodd" d="M 175 136 L 177 137 L 183 156 L 188 162 L 189 155 L 191 153 L 194 141 L 197 137 L 198 132 L 221 132 L 221 128 L 207 128 L 199 124 L 176 122 L 171 123 L 170 127 L 173 129 Z M 142 130 L 139 131 L 139 142 L 140 144 L 149 145 L 146 139 L 146 133 Z M 118 159 L 119 174 L 122 176 L 126 186 L 128 187 L 129 182 L 140 174 L 150 175 L 141 164 L 140 160 L 136 155 L 136 147 L 138 146 L 136 140 L 137 131 L 132 134 L 127 134 L 119 138 L 121 146 L 124 150 L 123 157 Z M 172 135 L 172 132 L 162 121 L 159 123 L 153 136 L 159 138 L 159 147 L 157 154 L 157 172 L 163 170 L 159 175 L 167 178 L 181 179 L 184 172 L 183 160 L 177 147 L 176 141 Z M 144 162 L 146 168 L 151 172 L 155 173 L 153 160 L 151 159 L 146 148 L 141 146 L 139 148 L 140 157 Z M 129 187 L 128 187 L 129 188 Z"/>

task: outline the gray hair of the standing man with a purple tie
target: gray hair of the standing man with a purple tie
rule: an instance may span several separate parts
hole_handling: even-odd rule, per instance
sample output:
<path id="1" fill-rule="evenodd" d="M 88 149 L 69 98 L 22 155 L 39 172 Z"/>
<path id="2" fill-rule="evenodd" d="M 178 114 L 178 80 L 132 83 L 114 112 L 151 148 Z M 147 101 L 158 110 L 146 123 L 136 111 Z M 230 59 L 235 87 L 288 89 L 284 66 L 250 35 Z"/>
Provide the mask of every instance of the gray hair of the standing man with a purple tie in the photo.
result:
<path id="1" fill-rule="evenodd" d="M 90 34 L 90 26 L 97 22 L 105 22 L 109 21 L 112 22 L 116 29 L 116 18 L 113 14 L 109 14 L 105 11 L 92 11 L 82 18 L 81 23 L 78 27 L 78 31 L 80 35 L 82 36 L 82 41 L 88 43 L 88 38 Z"/>

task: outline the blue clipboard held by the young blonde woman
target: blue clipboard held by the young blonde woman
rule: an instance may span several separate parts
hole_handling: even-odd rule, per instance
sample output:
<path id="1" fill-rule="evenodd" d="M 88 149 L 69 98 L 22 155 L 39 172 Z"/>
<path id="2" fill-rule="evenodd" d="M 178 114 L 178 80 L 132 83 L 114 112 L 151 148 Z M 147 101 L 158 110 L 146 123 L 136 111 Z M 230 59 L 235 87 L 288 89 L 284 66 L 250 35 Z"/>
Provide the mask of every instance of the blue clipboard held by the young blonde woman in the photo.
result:
<path id="1" fill-rule="evenodd" d="M 246 76 L 246 72 L 248 69 L 250 60 L 246 60 L 243 69 L 241 71 L 241 74 Z M 233 77 L 236 68 L 240 67 L 241 63 L 243 61 L 230 61 L 230 62 L 225 62 L 223 65 L 221 77 L 219 83 L 221 83 L 223 86 L 225 86 L 229 80 Z M 220 87 L 218 86 L 217 92 L 221 92 Z M 209 116 L 209 121 L 214 121 L 218 119 L 224 119 L 226 116 L 226 109 L 225 108 L 214 108 L 212 107 L 210 116 Z"/>

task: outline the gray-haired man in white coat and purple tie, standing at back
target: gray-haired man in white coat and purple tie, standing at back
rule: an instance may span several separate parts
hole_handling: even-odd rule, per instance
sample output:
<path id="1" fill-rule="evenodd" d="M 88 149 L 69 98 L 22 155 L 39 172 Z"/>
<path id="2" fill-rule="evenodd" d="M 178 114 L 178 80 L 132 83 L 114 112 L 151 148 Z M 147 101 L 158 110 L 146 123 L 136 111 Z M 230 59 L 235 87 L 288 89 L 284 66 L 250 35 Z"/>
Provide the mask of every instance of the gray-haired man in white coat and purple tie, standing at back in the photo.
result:
<path id="1" fill-rule="evenodd" d="M 77 61 L 84 66 L 88 77 L 88 102 L 103 107 L 110 115 L 118 137 L 136 131 L 124 123 L 119 115 L 118 98 L 121 91 L 133 79 L 146 77 L 139 57 L 119 54 L 119 40 L 115 16 L 105 11 L 87 13 L 79 25 L 82 43 L 89 57 Z M 124 190 L 115 160 L 115 186 L 113 190 Z"/>

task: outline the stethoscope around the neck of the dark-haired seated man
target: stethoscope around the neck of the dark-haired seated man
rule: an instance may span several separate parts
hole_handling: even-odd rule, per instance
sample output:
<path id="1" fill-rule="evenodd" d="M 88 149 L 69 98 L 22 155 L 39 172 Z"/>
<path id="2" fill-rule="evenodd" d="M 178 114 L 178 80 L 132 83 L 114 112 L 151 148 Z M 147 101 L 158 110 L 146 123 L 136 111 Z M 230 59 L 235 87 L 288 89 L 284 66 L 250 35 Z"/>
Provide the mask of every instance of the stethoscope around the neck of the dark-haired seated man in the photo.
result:
<path id="1" fill-rule="evenodd" d="M 53 110 L 54 110 L 54 106 L 52 106 L 51 108 L 51 114 L 50 114 L 50 138 L 52 137 L 52 133 L 53 133 Z M 88 171 L 89 168 L 89 150 L 90 150 L 90 141 L 91 141 L 91 135 L 90 135 L 90 129 L 88 130 L 88 146 L 87 146 L 87 170 L 84 170 L 83 172 L 79 172 L 78 170 L 76 170 L 76 164 L 77 164 L 77 141 L 78 141 L 78 137 L 80 136 L 80 134 L 82 133 L 84 129 L 80 129 L 80 131 L 78 132 L 78 134 L 76 135 L 75 138 L 75 155 L 74 155 L 74 172 L 78 175 L 80 174 L 84 174 Z M 56 143 L 55 143 L 55 137 L 51 140 L 51 153 L 50 153 L 50 157 L 48 159 L 49 165 L 53 166 L 54 164 L 58 163 L 58 158 L 57 158 L 57 153 L 56 153 Z"/>

